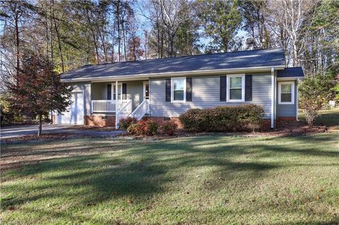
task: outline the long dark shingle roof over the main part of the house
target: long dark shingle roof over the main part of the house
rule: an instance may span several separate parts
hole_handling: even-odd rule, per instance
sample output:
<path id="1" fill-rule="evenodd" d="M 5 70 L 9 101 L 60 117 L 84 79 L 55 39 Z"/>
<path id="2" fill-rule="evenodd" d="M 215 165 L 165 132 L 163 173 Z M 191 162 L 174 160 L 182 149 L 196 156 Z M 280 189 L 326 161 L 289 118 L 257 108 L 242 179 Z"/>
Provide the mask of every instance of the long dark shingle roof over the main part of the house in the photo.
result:
<path id="1" fill-rule="evenodd" d="M 148 73 L 171 73 L 184 71 L 249 68 L 256 66 L 283 66 L 285 54 L 282 48 L 234 51 L 218 54 L 149 59 L 119 63 L 87 65 L 68 71 L 62 79 L 98 78 L 117 75 L 141 75 Z"/>

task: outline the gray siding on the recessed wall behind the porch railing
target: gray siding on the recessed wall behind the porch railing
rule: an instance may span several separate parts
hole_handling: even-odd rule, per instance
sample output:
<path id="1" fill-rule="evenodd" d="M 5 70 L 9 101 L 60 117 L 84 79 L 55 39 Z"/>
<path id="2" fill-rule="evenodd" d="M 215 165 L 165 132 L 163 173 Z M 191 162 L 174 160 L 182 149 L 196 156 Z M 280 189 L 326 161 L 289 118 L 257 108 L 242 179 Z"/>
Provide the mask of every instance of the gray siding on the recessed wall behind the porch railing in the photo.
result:
<path id="1" fill-rule="evenodd" d="M 133 110 L 138 107 L 141 102 L 143 102 L 143 81 L 144 80 L 133 80 L 133 81 L 123 81 L 119 83 L 126 83 L 127 87 L 127 95 L 126 99 L 132 99 L 132 107 Z M 99 97 L 97 100 L 107 99 L 107 85 L 113 84 L 113 83 L 92 83 L 92 87 L 95 86 L 95 90 L 93 92 L 96 92 L 95 96 Z"/>

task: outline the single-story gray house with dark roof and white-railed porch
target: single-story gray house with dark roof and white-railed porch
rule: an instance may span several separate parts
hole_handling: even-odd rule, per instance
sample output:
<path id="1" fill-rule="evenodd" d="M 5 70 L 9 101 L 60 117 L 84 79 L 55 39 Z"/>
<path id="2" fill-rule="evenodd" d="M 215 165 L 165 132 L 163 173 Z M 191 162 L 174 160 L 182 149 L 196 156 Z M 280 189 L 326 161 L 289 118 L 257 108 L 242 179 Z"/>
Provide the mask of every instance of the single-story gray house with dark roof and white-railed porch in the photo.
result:
<path id="1" fill-rule="evenodd" d="M 87 65 L 61 75 L 72 104 L 55 121 L 118 126 L 126 116 L 178 121 L 190 108 L 259 104 L 273 128 L 297 120 L 302 78 L 281 48 Z"/>

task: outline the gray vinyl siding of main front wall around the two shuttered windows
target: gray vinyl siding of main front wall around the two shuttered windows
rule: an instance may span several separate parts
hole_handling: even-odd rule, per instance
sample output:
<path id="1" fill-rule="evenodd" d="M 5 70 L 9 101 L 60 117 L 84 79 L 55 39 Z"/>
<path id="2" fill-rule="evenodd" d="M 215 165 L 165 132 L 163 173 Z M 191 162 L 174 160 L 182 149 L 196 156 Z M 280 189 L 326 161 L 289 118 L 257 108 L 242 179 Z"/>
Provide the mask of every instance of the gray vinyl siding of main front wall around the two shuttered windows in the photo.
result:
<path id="1" fill-rule="evenodd" d="M 270 73 L 251 73 L 252 101 L 259 104 L 266 117 L 270 116 Z M 189 77 L 189 76 L 188 76 Z M 220 75 L 202 75 L 192 77 L 192 102 L 165 102 L 165 78 L 150 79 L 151 116 L 179 116 L 190 108 L 208 108 L 221 105 L 244 104 L 220 102 Z"/>

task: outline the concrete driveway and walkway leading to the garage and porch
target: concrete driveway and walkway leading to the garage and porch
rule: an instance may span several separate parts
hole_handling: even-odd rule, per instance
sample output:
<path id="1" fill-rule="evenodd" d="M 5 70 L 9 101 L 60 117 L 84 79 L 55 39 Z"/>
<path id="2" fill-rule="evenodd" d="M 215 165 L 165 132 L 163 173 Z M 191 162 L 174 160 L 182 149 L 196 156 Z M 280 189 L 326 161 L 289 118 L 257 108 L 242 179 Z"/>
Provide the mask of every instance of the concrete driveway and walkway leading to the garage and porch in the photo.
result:
<path id="1" fill-rule="evenodd" d="M 121 133 L 124 133 L 124 131 L 122 130 L 113 130 L 113 131 L 80 130 L 80 129 L 77 130 L 76 127 L 77 127 L 76 125 L 44 124 L 42 125 L 42 133 L 71 133 L 76 135 L 98 136 L 98 137 L 117 136 Z M 37 134 L 37 128 L 38 125 L 5 126 L 1 128 L 0 139 L 17 138 L 25 135 L 34 135 Z"/>

